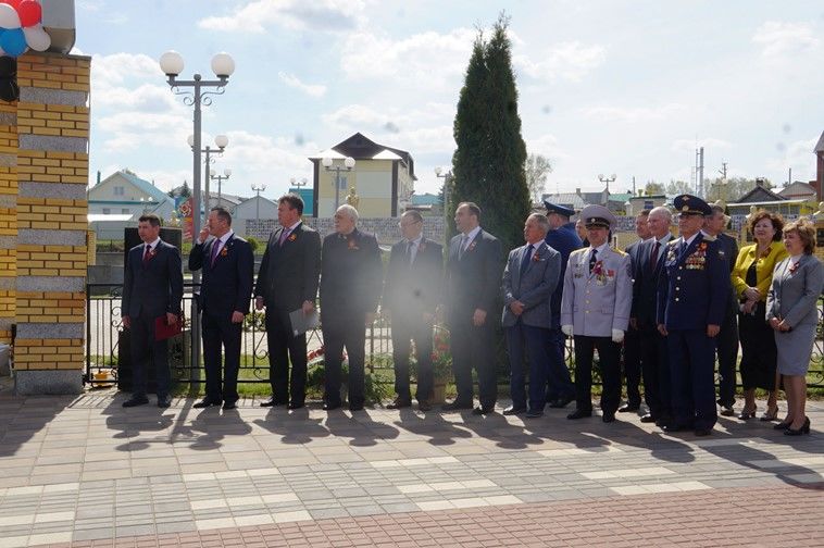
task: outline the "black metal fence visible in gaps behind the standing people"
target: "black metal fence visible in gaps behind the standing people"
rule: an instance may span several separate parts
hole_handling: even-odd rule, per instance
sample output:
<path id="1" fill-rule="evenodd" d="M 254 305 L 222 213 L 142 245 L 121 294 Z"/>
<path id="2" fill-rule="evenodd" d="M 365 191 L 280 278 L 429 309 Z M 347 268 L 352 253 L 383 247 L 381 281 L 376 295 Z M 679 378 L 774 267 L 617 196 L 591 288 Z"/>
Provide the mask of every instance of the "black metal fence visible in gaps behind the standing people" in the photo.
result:
<path id="1" fill-rule="evenodd" d="M 184 308 L 186 314 L 191 310 L 195 284 L 185 284 Z M 121 297 L 123 286 L 120 284 L 88 284 L 86 288 L 86 374 L 85 381 L 91 385 L 111 385 L 117 382 L 121 360 L 129 359 L 122 342 L 123 322 L 121 320 Z M 824 316 L 824 301 L 819 302 Z M 184 333 L 170 344 L 170 366 L 173 378 L 183 383 L 199 383 L 204 378 L 202 365 L 191 363 L 191 340 L 189 334 L 191 317 L 186 317 Z M 241 361 L 239 381 L 241 383 L 269 383 L 269 348 L 264 326 L 264 313 L 253 311 L 246 316 L 241 340 Z M 502 344 L 502 341 L 501 341 Z M 323 346 L 321 329 L 313 329 L 307 336 L 307 349 L 311 353 Z M 499 351 L 500 353 L 500 351 Z M 124 356 L 125 354 L 125 356 Z M 366 368 L 370 372 L 391 370 L 391 325 L 386 319 L 378 317 L 366 331 Z M 567 342 L 567 357 L 573 357 L 572 340 Z M 316 360 L 321 360 L 317 358 Z M 313 360 L 310 360 L 310 365 Z M 569 359 L 570 369 L 574 369 L 573 359 Z M 498 368 L 499 383 L 507 382 L 508 365 Z M 595 368 L 594 382 L 600 381 Z M 819 324 L 819 332 L 810 357 L 808 386 L 824 388 L 824 328 Z"/>

